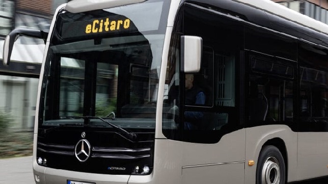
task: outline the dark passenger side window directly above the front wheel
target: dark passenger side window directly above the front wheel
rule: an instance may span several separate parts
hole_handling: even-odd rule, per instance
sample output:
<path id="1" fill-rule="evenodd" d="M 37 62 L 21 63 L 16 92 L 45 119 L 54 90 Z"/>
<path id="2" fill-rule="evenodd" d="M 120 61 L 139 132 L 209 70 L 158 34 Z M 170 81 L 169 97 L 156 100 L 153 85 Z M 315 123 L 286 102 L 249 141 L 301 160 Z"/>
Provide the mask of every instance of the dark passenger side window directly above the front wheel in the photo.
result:
<path id="1" fill-rule="evenodd" d="M 293 121 L 292 65 L 251 56 L 248 119 L 251 123 Z"/>

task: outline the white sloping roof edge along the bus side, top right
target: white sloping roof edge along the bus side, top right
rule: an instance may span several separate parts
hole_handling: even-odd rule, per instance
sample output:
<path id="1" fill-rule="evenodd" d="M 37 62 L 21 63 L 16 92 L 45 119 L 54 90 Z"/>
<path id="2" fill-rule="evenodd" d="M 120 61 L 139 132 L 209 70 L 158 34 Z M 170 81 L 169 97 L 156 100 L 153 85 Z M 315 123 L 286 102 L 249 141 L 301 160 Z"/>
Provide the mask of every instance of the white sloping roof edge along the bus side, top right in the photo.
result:
<path id="1" fill-rule="evenodd" d="M 272 2 L 270 0 L 254 1 L 254 0 L 233 0 L 238 3 L 242 3 L 248 6 L 261 9 L 267 13 L 283 17 L 287 20 L 293 21 L 297 24 L 309 27 L 317 32 L 328 35 L 328 25 L 313 19 L 309 16 L 303 15 L 297 11 L 291 10 L 283 5 Z"/>

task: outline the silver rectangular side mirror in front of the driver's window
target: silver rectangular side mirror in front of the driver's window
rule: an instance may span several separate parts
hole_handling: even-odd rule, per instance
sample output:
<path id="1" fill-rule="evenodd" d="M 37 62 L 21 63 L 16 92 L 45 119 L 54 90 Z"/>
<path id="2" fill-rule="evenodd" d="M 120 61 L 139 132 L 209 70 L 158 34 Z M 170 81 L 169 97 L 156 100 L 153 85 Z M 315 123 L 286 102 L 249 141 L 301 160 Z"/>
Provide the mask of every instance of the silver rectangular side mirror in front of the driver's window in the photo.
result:
<path id="1" fill-rule="evenodd" d="M 201 69 L 202 38 L 181 36 L 181 72 L 196 73 Z"/>

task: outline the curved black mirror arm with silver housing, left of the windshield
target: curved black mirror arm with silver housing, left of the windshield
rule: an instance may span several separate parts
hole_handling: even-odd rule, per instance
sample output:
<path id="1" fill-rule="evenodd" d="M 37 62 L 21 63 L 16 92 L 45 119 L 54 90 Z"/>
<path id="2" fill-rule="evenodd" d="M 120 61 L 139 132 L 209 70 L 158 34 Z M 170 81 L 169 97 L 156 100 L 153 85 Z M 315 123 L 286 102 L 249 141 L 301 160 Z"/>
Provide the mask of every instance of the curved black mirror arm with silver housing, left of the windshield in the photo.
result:
<path id="1" fill-rule="evenodd" d="M 10 32 L 4 42 L 3 50 L 3 63 L 4 65 L 9 65 L 11 52 L 14 47 L 14 42 L 18 39 L 19 36 L 33 37 L 43 39 L 44 43 L 47 40 L 48 33 L 43 32 L 42 30 L 27 29 L 27 28 L 15 28 Z"/>

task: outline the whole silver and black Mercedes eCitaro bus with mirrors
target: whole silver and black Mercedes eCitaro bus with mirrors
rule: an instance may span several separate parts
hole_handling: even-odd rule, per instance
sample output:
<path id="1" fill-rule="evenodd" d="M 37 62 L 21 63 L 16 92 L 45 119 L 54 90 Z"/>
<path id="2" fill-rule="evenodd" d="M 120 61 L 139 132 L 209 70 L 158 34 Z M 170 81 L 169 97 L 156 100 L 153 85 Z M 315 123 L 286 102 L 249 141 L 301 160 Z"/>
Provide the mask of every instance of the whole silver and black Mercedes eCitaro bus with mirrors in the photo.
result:
<path id="1" fill-rule="evenodd" d="M 328 175 L 323 23 L 269 0 L 73 0 L 49 33 L 14 29 L 4 64 L 18 36 L 46 44 L 37 184 Z"/>

